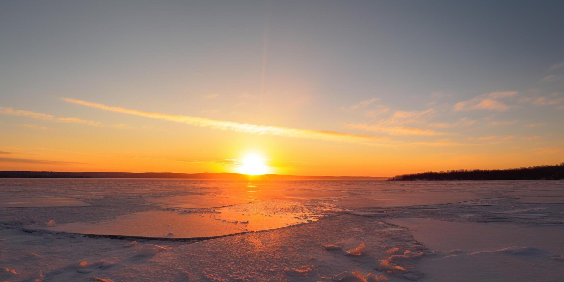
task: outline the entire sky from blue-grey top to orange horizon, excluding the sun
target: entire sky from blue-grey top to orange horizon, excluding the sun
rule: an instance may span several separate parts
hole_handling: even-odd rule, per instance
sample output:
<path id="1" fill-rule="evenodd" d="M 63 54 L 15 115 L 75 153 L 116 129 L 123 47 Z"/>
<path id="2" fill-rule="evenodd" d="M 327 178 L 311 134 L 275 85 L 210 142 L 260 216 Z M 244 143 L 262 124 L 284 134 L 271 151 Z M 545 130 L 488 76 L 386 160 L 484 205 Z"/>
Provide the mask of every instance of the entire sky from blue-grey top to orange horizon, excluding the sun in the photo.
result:
<path id="1" fill-rule="evenodd" d="M 562 1 L 2 1 L 0 170 L 564 161 Z"/>

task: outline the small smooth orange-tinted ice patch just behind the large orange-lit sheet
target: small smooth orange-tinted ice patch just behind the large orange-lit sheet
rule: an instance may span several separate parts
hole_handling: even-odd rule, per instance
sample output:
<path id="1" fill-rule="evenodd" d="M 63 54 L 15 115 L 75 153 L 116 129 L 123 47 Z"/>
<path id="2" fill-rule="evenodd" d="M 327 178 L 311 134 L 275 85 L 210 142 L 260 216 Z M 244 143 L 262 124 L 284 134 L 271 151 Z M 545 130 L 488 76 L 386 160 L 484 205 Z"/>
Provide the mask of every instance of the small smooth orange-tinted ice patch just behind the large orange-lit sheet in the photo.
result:
<path id="1" fill-rule="evenodd" d="M 188 196 L 171 196 L 171 197 L 151 197 L 145 199 L 148 202 L 156 204 L 174 206 L 177 208 L 206 209 L 218 208 L 220 206 L 230 206 L 243 204 L 245 202 L 253 202 L 256 200 L 244 197 L 234 197 L 230 195 L 188 195 Z"/>

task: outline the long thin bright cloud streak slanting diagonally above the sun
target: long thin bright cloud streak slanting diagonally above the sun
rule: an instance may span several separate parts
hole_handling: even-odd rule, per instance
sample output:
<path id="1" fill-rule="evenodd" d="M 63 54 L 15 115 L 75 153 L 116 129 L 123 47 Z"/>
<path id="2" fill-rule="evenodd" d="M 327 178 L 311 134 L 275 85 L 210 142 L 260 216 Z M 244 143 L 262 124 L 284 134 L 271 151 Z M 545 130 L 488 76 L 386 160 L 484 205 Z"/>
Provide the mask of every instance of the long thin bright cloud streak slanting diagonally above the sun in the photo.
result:
<path id="1" fill-rule="evenodd" d="M 382 141 L 387 140 L 387 138 L 380 136 L 341 133 L 337 131 L 297 129 L 297 128 L 284 127 L 284 126 L 241 124 L 239 122 L 212 120 L 210 118 L 204 118 L 204 117 L 192 117 L 192 116 L 183 116 L 178 114 L 145 112 L 145 111 L 138 111 L 136 109 L 112 107 L 104 104 L 92 103 L 92 102 L 87 102 L 87 101 L 77 100 L 72 98 L 61 98 L 61 100 L 64 100 L 65 102 L 68 103 L 84 105 L 86 107 L 103 109 L 104 111 L 133 114 L 135 116 L 179 122 L 182 124 L 188 124 L 188 125 L 199 126 L 199 127 L 210 127 L 219 130 L 231 130 L 231 131 L 248 133 L 248 134 L 276 135 L 276 136 L 285 136 L 285 137 L 293 137 L 293 138 L 321 139 L 321 140 L 365 143 L 365 144 L 381 144 Z"/>

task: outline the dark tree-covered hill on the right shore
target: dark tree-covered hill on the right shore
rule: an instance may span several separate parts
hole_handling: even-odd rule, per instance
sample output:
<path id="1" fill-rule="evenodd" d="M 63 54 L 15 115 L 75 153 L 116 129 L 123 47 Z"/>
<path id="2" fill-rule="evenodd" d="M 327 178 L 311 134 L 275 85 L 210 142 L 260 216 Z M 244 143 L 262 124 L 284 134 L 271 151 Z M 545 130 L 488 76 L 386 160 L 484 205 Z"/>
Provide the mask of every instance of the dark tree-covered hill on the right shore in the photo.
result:
<path id="1" fill-rule="evenodd" d="M 559 165 L 518 169 L 449 170 L 396 175 L 388 180 L 556 180 L 564 179 L 564 162 Z"/>

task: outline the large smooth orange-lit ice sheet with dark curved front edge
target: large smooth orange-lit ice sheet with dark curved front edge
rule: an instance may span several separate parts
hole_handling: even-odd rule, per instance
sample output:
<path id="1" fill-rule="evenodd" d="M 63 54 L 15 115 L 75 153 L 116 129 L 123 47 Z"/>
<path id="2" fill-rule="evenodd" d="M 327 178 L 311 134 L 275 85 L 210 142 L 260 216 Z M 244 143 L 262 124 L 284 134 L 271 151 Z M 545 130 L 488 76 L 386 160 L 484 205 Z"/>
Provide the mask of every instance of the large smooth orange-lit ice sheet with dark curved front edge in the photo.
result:
<path id="1" fill-rule="evenodd" d="M 302 220 L 293 218 L 291 214 L 267 217 L 263 214 L 241 214 L 239 211 L 231 210 L 202 214 L 143 211 L 99 223 L 74 222 L 45 229 L 95 235 L 193 238 L 268 230 L 302 222 Z"/>

